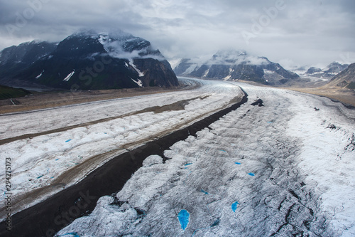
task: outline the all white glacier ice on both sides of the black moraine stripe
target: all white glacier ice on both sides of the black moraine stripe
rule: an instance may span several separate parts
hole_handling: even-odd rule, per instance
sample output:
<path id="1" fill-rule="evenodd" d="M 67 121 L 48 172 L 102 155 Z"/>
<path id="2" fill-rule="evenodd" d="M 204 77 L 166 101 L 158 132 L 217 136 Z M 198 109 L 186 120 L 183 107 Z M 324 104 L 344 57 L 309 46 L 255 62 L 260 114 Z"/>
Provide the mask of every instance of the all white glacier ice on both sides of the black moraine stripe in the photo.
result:
<path id="1" fill-rule="evenodd" d="M 75 184 L 126 149 L 230 105 L 242 88 L 248 102 L 165 150 L 165 162 L 147 157 L 121 191 L 103 196 L 89 216 L 57 236 L 355 235 L 355 110 L 289 90 L 180 80 L 199 87 L 1 115 L 1 139 L 78 125 L 0 146 L 1 160 L 13 160 L 16 209 Z M 251 105 L 258 99 L 263 106 Z M 182 100 L 185 109 L 142 111 Z M 99 154 L 106 155 L 91 159 Z M 61 174 L 70 179 L 59 182 Z M 21 198 L 46 186 L 31 203 Z"/>

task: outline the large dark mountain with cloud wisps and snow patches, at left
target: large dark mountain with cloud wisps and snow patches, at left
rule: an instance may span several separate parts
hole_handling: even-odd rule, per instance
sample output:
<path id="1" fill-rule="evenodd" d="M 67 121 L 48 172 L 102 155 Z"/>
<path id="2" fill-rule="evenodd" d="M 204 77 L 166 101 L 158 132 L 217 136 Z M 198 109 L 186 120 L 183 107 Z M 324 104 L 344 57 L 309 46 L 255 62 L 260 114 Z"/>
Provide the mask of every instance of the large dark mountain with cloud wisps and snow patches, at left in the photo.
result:
<path id="1" fill-rule="evenodd" d="M 20 81 L 71 90 L 178 85 L 160 51 L 149 41 L 123 31 L 72 34 L 22 70 L 0 77 L 16 81 L 16 85 Z"/>

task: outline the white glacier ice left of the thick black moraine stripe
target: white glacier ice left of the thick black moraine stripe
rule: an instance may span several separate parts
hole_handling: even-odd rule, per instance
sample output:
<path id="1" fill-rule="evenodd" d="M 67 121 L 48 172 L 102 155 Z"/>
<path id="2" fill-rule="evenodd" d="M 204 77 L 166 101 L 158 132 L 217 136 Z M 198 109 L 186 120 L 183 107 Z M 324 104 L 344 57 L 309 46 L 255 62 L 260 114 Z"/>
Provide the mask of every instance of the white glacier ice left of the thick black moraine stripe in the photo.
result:
<path id="1" fill-rule="evenodd" d="M 181 80 L 202 86 L 195 90 L 0 115 L 1 139 L 74 126 L 62 132 L 18 139 L 0 146 L 1 160 L 11 157 L 11 183 L 13 184 L 11 191 L 14 199 L 18 198 L 13 204 L 13 213 L 47 198 L 54 191 L 75 184 L 87 172 L 126 152 L 127 149 L 173 132 L 180 127 L 186 127 L 195 120 L 229 105 L 233 98 L 242 95 L 236 85 L 204 80 Z M 197 98 L 197 95 L 201 98 Z M 159 113 L 142 111 L 149 107 L 170 105 L 180 100 L 191 100 L 185 106 L 185 110 L 167 110 Z M 108 120 L 87 124 L 105 119 Z M 84 123 L 86 124 L 83 125 Z M 126 144 L 131 145 L 126 146 Z M 91 159 L 100 154 L 105 155 L 101 159 Z M 56 184 L 59 182 L 57 178 L 60 174 L 88 159 L 92 161 L 81 174 L 77 174 L 75 179 L 64 183 L 61 180 L 58 189 L 51 189 L 52 193 L 38 196 L 38 199 L 31 204 L 21 203 L 23 194 Z M 5 178 L 4 170 L 0 171 L 0 181 L 4 182 Z M 5 195 L 5 186 L 0 186 L 0 192 Z M 1 207 L 4 209 L 4 204 L 1 204 L 0 209 Z"/>

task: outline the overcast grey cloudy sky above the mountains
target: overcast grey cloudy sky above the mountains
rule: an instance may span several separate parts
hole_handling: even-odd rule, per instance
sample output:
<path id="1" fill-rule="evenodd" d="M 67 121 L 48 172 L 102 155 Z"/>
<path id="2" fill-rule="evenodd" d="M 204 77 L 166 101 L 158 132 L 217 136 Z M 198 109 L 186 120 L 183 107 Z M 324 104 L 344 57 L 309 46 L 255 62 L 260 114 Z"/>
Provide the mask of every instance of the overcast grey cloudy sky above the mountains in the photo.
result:
<path id="1" fill-rule="evenodd" d="M 80 28 L 146 38 L 173 64 L 224 48 L 285 68 L 355 62 L 354 0 L 0 0 L 0 49 Z"/>

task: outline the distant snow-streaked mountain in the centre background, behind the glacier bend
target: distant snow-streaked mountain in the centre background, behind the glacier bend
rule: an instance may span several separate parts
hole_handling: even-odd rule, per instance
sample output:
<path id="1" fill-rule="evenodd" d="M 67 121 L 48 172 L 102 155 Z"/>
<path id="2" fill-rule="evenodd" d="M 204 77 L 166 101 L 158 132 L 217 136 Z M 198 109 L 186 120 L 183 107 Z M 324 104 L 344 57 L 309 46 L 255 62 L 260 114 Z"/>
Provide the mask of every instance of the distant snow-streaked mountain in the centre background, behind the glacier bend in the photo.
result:
<path id="1" fill-rule="evenodd" d="M 218 80 L 250 80 L 257 83 L 282 85 L 298 79 L 296 73 L 285 70 L 266 57 L 250 56 L 246 51 L 218 51 L 204 63 L 184 58 L 174 69 L 177 75 Z"/>

